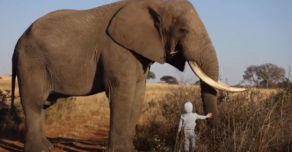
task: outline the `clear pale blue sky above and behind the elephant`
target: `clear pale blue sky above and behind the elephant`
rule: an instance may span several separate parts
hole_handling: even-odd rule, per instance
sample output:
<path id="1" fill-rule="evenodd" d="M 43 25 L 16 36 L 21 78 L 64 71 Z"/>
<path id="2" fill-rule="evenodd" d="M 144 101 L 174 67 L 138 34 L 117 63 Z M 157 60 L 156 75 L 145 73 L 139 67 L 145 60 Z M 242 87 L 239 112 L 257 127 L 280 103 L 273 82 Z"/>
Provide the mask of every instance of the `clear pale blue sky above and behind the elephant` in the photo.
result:
<path id="1" fill-rule="evenodd" d="M 292 66 L 291 0 L 190 0 L 204 22 L 217 51 L 223 82 L 237 84 L 249 65 L 273 63 L 288 71 Z M 0 75 L 11 74 L 14 46 L 37 18 L 58 9 L 88 9 L 114 0 L 1 0 Z M 185 72 L 154 63 L 157 82 L 163 75 L 198 78 L 186 64 Z"/>

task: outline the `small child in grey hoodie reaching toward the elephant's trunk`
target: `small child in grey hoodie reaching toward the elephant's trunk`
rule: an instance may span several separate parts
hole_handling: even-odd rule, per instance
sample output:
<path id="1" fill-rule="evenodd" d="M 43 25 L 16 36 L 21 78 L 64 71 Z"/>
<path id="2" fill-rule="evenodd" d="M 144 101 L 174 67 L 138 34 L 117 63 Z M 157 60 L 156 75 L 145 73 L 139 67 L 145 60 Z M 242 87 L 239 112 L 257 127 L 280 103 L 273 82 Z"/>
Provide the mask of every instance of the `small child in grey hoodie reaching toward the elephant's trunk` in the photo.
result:
<path id="1" fill-rule="evenodd" d="M 185 134 L 184 144 L 185 144 L 185 152 L 189 151 L 189 146 L 191 144 L 192 150 L 195 148 L 195 126 L 196 126 L 196 120 L 197 119 L 206 119 L 211 118 L 212 113 L 208 113 L 206 116 L 204 115 L 198 115 L 197 113 L 192 113 L 193 110 L 193 104 L 191 102 L 185 103 L 184 106 L 185 113 L 181 115 L 180 122 L 178 126 L 178 133 L 183 127 L 183 131 Z"/>

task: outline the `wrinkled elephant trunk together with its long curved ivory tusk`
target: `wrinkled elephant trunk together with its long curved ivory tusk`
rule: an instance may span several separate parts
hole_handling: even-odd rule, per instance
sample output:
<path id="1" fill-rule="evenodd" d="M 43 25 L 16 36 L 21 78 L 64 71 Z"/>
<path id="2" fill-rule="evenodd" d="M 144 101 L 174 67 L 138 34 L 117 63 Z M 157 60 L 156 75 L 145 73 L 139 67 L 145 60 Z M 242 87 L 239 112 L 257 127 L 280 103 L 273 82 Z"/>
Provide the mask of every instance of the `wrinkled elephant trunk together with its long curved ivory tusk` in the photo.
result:
<path id="1" fill-rule="evenodd" d="M 192 52 L 192 54 L 185 54 L 185 56 L 190 57 L 187 58 L 188 64 L 201 80 L 201 99 L 204 113 L 205 115 L 210 112 L 213 114 L 213 118 L 208 119 L 208 123 L 210 126 L 218 126 L 220 117 L 217 106 L 217 92 L 214 88 L 232 92 L 244 91 L 245 89 L 230 87 L 218 81 L 218 59 L 206 29 L 203 27 L 199 32 L 191 35 L 195 38 L 190 40 L 195 40 L 195 42 L 192 41 L 191 45 L 187 45 L 185 49 L 189 51 L 185 52 Z"/>

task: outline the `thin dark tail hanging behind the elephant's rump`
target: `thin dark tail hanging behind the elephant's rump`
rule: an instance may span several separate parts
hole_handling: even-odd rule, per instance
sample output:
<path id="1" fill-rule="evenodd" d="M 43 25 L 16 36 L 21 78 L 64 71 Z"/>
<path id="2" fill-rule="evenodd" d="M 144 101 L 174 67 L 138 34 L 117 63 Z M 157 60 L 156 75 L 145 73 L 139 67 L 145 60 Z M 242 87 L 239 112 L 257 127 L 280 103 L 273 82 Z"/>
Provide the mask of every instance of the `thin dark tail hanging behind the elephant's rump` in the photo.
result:
<path id="1" fill-rule="evenodd" d="M 13 52 L 12 55 L 12 77 L 11 77 L 11 115 L 13 118 L 16 116 L 15 106 L 14 106 L 14 99 L 15 99 L 15 81 L 16 81 L 16 63 L 15 63 L 15 53 Z"/>

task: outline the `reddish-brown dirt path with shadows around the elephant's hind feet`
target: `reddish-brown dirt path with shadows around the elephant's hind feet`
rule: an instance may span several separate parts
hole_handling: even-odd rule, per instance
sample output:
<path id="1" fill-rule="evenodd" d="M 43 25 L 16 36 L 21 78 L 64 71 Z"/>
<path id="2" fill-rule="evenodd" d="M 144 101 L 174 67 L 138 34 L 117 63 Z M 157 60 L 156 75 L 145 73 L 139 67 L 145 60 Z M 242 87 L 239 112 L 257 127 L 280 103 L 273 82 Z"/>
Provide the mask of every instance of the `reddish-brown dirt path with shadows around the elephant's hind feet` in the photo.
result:
<path id="1" fill-rule="evenodd" d="M 61 127 L 54 127 L 54 131 L 51 131 L 48 134 L 48 140 L 55 145 L 55 150 L 53 152 L 87 152 L 87 151 L 105 151 L 105 142 L 107 141 L 108 136 L 108 127 L 103 128 L 88 128 L 85 130 L 87 136 L 78 136 L 78 137 L 67 137 L 66 134 L 69 134 L 74 127 L 82 125 L 87 121 L 74 122 L 74 125 L 64 125 Z M 60 137 L 60 135 L 65 137 Z M 0 140 L 0 151 L 3 152 L 20 152 L 23 147 L 23 140 L 17 141 L 16 138 L 8 138 Z"/>

